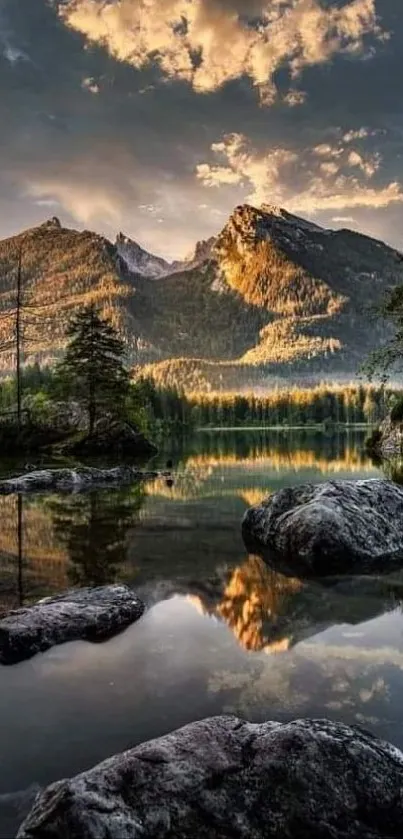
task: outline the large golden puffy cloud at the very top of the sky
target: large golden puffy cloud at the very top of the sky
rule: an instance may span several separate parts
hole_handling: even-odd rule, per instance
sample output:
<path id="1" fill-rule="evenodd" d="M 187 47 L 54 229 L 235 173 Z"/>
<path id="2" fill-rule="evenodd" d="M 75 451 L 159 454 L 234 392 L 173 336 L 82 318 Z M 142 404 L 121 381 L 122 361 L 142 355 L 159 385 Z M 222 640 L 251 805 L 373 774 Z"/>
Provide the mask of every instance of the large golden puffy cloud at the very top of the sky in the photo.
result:
<path id="1" fill-rule="evenodd" d="M 368 38 L 387 37 L 375 0 L 326 8 L 320 0 L 260 0 L 249 18 L 243 8 L 236 0 L 59 0 L 65 23 L 120 61 L 138 69 L 156 62 L 166 77 L 204 93 L 248 76 L 263 104 L 276 98 L 280 68 L 297 78 L 339 54 L 364 56 Z M 291 88 L 284 101 L 303 98 Z"/>

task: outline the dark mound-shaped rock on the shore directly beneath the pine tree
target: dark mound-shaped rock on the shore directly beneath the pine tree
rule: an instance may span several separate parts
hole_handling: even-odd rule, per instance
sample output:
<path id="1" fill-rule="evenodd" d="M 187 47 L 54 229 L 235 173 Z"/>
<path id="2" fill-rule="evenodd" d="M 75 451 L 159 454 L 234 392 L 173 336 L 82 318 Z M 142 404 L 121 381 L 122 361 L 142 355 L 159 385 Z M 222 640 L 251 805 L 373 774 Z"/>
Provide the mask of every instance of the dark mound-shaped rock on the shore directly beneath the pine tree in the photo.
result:
<path id="1" fill-rule="evenodd" d="M 78 456 L 111 454 L 144 457 L 154 454 L 157 449 L 129 422 L 106 418 L 97 423 L 92 435 L 67 443 L 64 451 Z"/>

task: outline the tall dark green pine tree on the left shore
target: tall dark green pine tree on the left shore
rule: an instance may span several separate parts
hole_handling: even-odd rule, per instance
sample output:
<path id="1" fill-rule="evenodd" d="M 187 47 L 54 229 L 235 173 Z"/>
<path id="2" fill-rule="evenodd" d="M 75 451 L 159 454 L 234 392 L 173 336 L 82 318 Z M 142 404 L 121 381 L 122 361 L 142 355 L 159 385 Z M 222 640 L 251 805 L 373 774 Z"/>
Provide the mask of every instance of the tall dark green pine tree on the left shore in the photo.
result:
<path id="1" fill-rule="evenodd" d="M 73 317 L 67 335 L 70 340 L 58 368 L 60 382 L 69 397 L 84 406 L 93 434 L 102 414 L 121 415 L 124 408 L 129 390 L 125 346 L 93 305 Z"/>

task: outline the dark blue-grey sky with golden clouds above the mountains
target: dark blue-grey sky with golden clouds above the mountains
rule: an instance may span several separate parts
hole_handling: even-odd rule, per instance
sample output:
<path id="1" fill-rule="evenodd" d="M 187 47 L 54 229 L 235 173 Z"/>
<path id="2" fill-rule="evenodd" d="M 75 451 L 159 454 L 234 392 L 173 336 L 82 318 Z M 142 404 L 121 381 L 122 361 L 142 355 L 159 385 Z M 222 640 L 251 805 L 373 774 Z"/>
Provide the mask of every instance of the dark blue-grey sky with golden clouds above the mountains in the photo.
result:
<path id="1" fill-rule="evenodd" d="M 403 250 L 403 0 L 0 0 L 0 237 L 181 258 L 262 203 Z"/>

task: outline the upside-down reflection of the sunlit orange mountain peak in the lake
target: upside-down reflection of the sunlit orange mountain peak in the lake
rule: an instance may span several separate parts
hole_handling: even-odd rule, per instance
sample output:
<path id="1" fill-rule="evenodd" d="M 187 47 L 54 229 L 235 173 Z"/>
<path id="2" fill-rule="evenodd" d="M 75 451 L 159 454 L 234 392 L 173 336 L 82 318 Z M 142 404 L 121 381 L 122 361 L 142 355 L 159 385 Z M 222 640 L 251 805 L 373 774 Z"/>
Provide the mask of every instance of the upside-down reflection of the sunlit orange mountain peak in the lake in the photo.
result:
<path id="1" fill-rule="evenodd" d="M 386 577 L 302 581 L 250 556 L 214 589 L 189 582 L 188 600 L 225 622 L 247 651 L 277 653 L 338 624 L 354 626 L 401 607 L 403 572 Z M 193 589 L 193 591 L 192 591 Z"/>

